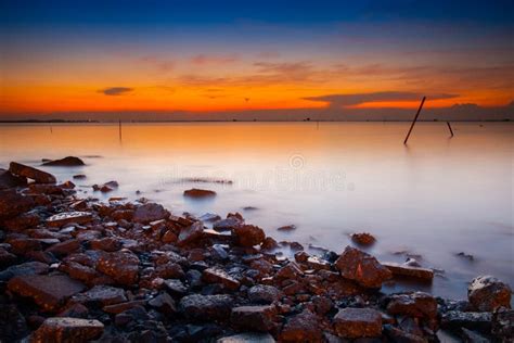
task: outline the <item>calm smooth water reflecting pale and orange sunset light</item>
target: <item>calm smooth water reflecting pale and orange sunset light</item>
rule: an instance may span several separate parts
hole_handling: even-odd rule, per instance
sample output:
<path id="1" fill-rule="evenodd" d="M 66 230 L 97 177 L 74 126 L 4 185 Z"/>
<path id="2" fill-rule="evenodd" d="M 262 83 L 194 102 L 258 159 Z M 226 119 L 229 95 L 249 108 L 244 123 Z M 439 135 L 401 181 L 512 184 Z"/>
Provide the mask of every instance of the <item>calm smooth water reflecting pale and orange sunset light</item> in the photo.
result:
<path id="1" fill-rule="evenodd" d="M 220 123 L 0 126 L 0 167 L 41 158 L 81 156 L 87 166 L 47 167 L 61 180 L 74 174 L 89 186 L 115 179 L 107 195 L 142 196 L 171 212 L 224 216 L 241 212 L 277 240 L 342 252 L 348 233 L 369 231 L 368 251 L 444 269 L 432 285 L 464 298 L 466 282 L 481 274 L 514 285 L 513 125 L 421 123 L 409 145 L 407 123 Z M 230 179 L 232 185 L 189 183 L 184 178 Z M 213 201 L 183 199 L 185 189 L 208 188 Z M 258 209 L 245 211 L 254 206 Z M 294 224 L 293 232 L 277 228 Z M 474 262 L 455 256 L 465 252 Z M 397 290 L 404 284 L 388 287 Z"/>

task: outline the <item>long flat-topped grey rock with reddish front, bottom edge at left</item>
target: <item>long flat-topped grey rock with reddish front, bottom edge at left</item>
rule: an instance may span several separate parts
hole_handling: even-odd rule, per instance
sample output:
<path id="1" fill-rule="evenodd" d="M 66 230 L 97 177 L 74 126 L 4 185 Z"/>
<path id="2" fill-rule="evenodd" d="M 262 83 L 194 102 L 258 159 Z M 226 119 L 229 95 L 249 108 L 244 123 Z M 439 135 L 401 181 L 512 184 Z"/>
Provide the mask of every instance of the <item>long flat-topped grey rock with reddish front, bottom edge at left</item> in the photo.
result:
<path id="1" fill-rule="evenodd" d="M 54 317 L 44 320 L 30 342 L 81 343 L 99 339 L 103 323 L 94 319 Z"/>

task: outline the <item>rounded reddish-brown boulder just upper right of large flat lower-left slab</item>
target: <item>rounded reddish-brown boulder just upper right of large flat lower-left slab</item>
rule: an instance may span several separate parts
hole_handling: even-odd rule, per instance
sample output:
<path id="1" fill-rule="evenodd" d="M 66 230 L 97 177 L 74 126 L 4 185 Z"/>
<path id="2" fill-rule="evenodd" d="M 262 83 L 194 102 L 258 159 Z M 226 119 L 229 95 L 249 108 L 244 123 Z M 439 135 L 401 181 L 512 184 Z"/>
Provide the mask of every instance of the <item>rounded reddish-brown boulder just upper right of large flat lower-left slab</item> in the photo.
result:
<path id="1" fill-rule="evenodd" d="M 139 279 L 139 258 L 126 251 L 100 256 L 97 270 L 112 277 L 123 285 L 133 285 Z"/>

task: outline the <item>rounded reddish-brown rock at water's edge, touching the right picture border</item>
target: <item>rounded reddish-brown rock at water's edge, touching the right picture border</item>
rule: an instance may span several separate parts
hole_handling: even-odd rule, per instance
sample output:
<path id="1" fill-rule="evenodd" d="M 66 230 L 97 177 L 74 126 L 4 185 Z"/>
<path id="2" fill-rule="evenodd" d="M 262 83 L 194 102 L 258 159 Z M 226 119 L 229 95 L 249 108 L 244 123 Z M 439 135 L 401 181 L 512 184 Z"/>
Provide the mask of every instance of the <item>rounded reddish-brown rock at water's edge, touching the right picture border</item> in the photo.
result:
<path id="1" fill-rule="evenodd" d="M 511 288 L 494 277 L 480 276 L 467 288 L 467 298 L 480 312 L 493 312 L 500 306 L 511 308 Z"/>

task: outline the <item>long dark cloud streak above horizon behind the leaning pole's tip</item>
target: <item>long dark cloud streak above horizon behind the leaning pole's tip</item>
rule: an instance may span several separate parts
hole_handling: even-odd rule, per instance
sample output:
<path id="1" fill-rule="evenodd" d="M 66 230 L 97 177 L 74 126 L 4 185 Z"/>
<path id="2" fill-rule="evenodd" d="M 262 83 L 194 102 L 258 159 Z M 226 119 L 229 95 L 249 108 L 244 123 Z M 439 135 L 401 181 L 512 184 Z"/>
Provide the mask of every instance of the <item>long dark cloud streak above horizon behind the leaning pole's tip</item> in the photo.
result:
<path id="1" fill-rule="evenodd" d="M 427 94 L 427 99 L 440 100 L 440 99 L 452 99 L 459 97 L 458 94 Z M 385 102 L 385 101 L 412 101 L 420 100 L 423 94 L 408 91 L 382 91 L 372 93 L 354 93 L 354 94 L 327 94 L 321 97 L 308 97 L 303 98 L 309 101 L 321 101 L 326 102 L 329 107 L 348 107 L 359 105 L 369 102 Z"/>

